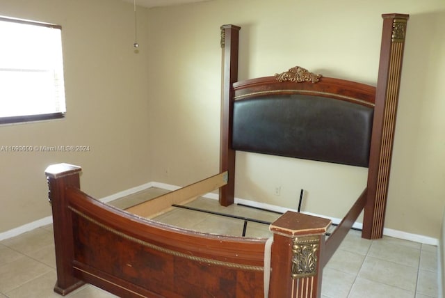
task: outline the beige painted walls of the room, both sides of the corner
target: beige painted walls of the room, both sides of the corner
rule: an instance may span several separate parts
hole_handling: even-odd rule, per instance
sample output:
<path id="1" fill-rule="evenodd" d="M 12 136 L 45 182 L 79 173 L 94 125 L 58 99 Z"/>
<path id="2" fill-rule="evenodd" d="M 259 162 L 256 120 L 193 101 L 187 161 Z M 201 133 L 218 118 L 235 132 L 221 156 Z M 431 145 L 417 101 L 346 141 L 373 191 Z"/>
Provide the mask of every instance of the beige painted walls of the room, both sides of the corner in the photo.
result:
<path id="1" fill-rule="evenodd" d="M 0 0 L 0 14 L 63 26 L 67 117 L 0 126 L 1 144 L 87 145 L 88 153 L 0 154 L 0 232 L 49 216 L 43 171 L 83 166 L 102 197 L 218 172 L 221 24 L 242 26 L 239 79 L 301 65 L 375 85 L 382 13 L 409 13 L 387 228 L 439 237 L 445 198 L 443 0 L 213 0 L 140 8 L 119 0 Z M 366 170 L 240 153 L 236 196 L 342 217 Z M 275 187 L 281 187 L 275 196 Z"/>

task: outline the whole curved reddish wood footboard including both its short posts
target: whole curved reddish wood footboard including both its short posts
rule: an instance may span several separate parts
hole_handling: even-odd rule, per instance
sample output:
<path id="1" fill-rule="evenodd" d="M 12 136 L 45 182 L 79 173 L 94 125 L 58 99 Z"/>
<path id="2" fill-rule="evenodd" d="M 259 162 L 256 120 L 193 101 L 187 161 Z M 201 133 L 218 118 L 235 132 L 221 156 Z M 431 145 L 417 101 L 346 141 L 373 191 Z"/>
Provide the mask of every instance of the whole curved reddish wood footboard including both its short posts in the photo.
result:
<path id="1" fill-rule="evenodd" d="M 83 283 L 120 297 L 320 295 L 330 220 L 286 212 L 270 226 L 265 256 L 266 239 L 175 228 L 97 201 L 80 190 L 79 173 L 69 164 L 46 171 L 60 295 Z"/>

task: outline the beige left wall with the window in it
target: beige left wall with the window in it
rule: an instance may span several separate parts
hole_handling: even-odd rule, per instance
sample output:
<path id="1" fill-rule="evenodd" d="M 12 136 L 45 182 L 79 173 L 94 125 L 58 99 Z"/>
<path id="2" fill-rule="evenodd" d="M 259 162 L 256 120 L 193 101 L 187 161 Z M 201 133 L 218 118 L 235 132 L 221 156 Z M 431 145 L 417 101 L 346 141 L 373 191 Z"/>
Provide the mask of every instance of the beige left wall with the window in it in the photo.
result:
<path id="1" fill-rule="evenodd" d="M 145 31 L 147 10 L 140 14 Z M 51 214 L 49 164 L 82 166 L 83 189 L 99 198 L 151 181 L 148 40 L 140 36 L 140 53 L 133 52 L 132 4 L 0 0 L 0 15 L 63 26 L 67 103 L 63 120 L 0 125 L 0 146 L 90 146 L 90 152 L 0 152 L 0 233 Z"/>

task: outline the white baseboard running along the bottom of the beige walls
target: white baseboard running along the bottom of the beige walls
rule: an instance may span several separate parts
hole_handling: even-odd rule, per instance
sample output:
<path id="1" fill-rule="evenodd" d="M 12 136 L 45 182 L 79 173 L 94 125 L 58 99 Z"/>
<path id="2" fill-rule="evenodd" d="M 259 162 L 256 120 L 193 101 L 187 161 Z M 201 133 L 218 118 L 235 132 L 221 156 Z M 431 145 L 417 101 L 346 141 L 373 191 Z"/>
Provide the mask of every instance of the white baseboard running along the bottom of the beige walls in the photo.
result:
<path id="1" fill-rule="evenodd" d="M 100 201 L 102 201 L 104 203 L 108 203 L 108 202 L 114 201 L 118 198 L 122 198 L 122 197 L 128 196 L 130 194 L 135 194 L 138 191 L 143 191 L 150 187 L 157 187 L 157 188 L 166 189 L 169 191 L 175 191 L 175 190 L 181 188 L 181 187 L 178 187 L 175 185 L 168 185 L 168 184 L 161 183 L 161 182 L 148 182 L 143 185 L 139 185 L 138 187 L 132 187 L 131 189 L 127 189 L 124 191 L 120 191 L 116 194 L 112 194 L 111 196 L 106 196 L 104 198 L 101 198 Z M 204 197 L 218 200 L 218 194 L 208 193 L 208 194 L 205 194 Z M 250 205 L 252 207 L 259 207 L 259 208 L 263 208 L 263 209 L 267 209 L 267 210 L 272 210 L 275 212 L 284 213 L 288 210 L 296 211 L 293 209 L 284 208 L 284 207 L 280 207 L 277 205 L 270 205 L 270 204 L 266 204 L 266 203 L 259 203 L 259 202 L 255 202 L 255 201 L 245 200 L 243 198 L 235 198 L 234 201 L 235 201 L 235 203 Z M 325 217 L 325 216 L 322 216 L 319 214 L 312 214 L 309 212 L 304 212 L 304 213 L 309 214 L 309 215 L 314 215 L 316 217 Z M 331 219 L 333 224 L 339 224 L 341 221 L 341 219 L 337 219 L 334 217 L 325 217 L 325 218 Z M 10 237 L 15 237 L 22 233 L 29 232 L 30 230 L 34 230 L 35 228 L 40 228 L 42 226 L 46 226 L 47 224 L 51 224 L 51 223 L 52 223 L 52 217 L 45 217 L 44 219 L 39 219 L 39 220 L 33 221 L 29 224 L 24 224 L 23 226 L 19 226 L 17 228 L 13 228 L 12 230 L 7 230 L 6 232 L 0 233 L 0 241 L 8 239 Z M 355 224 L 353 224 L 353 228 L 361 229 L 362 224 L 356 222 Z M 399 239 L 403 239 L 403 240 L 409 240 L 409 241 L 413 241 L 413 242 L 419 242 L 422 244 L 430 244 L 430 245 L 435 245 L 435 246 L 439 245 L 439 240 L 436 238 L 412 234 L 412 233 L 406 233 L 401 230 L 393 230 L 390 228 L 384 228 L 383 235 L 386 235 L 389 237 L 395 237 L 395 238 L 399 238 Z"/>

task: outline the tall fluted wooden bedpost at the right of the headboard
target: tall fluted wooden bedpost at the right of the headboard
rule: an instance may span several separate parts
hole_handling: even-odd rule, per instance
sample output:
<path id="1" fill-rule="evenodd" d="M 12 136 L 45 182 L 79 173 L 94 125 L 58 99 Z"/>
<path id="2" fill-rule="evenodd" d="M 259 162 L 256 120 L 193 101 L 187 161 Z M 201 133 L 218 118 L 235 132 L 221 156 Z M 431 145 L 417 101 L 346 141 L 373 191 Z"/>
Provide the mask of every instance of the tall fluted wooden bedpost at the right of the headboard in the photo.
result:
<path id="1" fill-rule="evenodd" d="M 368 239 L 378 239 L 383 235 L 403 48 L 409 15 L 386 14 L 382 17 L 382 45 L 375 93 L 373 141 L 369 155 L 368 199 L 364 211 L 366 224 L 362 234 Z"/>

